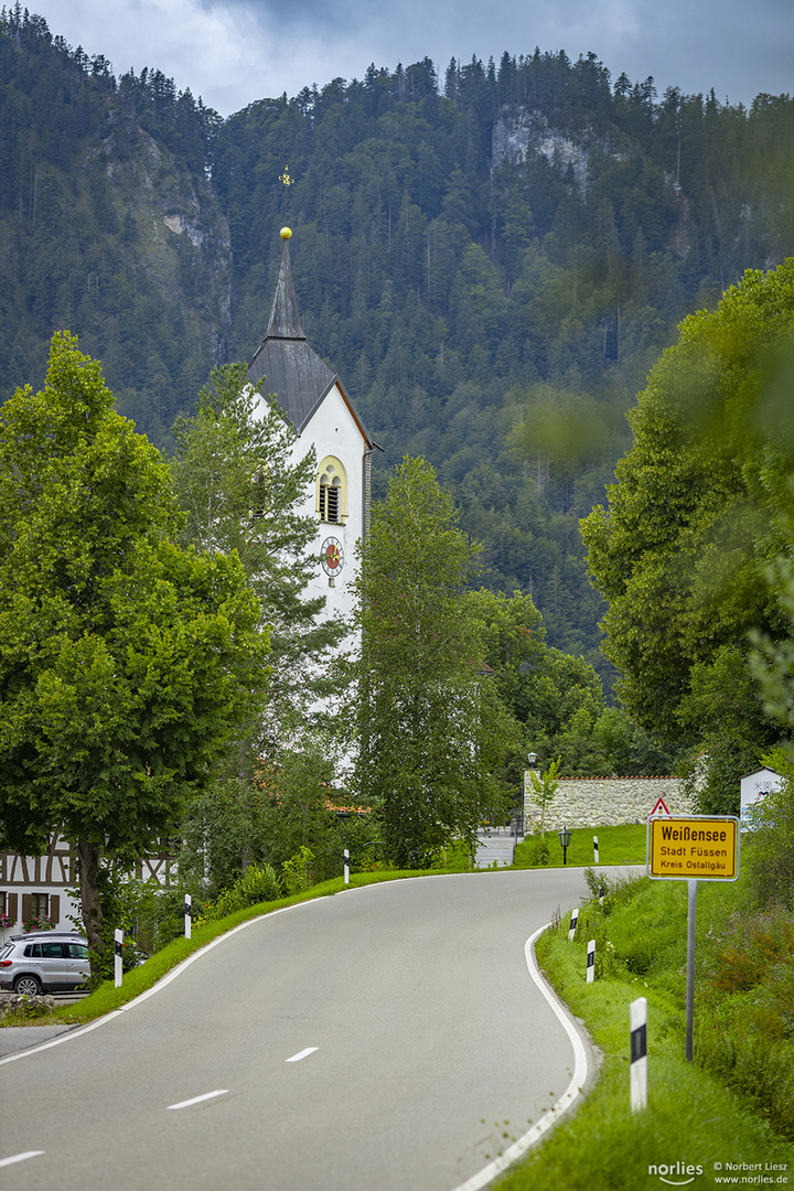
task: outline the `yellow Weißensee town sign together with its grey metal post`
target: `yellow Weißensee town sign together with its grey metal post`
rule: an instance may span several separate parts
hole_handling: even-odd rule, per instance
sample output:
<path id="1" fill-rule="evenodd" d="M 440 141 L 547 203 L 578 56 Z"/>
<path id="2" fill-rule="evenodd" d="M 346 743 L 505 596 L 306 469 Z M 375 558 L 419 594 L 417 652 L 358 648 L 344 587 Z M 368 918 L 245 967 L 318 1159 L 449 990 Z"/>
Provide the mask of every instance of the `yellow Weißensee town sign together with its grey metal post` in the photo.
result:
<path id="1" fill-rule="evenodd" d="M 692 1062 L 695 1006 L 695 921 L 698 881 L 734 881 L 739 875 L 739 821 L 729 815 L 692 815 L 648 821 L 648 875 L 657 881 L 686 881 L 687 913 L 687 1062 Z"/>

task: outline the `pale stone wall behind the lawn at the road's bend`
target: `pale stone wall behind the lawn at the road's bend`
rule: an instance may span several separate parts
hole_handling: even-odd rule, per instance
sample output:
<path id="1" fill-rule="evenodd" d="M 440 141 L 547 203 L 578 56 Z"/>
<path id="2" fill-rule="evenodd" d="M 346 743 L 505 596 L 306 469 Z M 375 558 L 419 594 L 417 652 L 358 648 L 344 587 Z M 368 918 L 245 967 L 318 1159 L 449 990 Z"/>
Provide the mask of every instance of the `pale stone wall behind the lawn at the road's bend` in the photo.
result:
<path id="1" fill-rule="evenodd" d="M 524 775 L 526 831 L 537 830 L 540 810 Z M 659 798 L 670 815 L 692 815 L 692 802 L 680 778 L 564 778 L 544 817 L 546 831 L 562 827 L 619 827 L 644 823 Z"/>

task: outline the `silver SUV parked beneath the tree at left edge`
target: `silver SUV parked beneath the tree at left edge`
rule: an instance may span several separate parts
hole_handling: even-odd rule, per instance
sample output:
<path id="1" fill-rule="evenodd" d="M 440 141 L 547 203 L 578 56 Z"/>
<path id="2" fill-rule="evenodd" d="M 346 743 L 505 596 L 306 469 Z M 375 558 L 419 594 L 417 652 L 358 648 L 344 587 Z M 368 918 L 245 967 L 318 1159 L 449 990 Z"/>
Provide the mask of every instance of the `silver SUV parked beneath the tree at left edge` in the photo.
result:
<path id="1" fill-rule="evenodd" d="M 58 930 L 14 935 L 0 950 L 0 990 L 70 992 L 85 986 L 90 966 L 88 940 Z"/>

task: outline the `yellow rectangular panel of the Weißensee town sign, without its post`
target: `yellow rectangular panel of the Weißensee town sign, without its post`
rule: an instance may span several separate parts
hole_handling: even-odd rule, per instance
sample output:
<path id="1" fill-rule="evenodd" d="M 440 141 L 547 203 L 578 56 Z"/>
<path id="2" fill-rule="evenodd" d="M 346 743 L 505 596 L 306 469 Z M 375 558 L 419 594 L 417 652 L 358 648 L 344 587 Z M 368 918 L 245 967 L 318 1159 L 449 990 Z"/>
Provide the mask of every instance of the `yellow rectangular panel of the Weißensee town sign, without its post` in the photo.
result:
<path id="1" fill-rule="evenodd" d="M 648 875 L 668 880 L 734 881 L 739 821 L 692 816 L 648 821 Z"/>

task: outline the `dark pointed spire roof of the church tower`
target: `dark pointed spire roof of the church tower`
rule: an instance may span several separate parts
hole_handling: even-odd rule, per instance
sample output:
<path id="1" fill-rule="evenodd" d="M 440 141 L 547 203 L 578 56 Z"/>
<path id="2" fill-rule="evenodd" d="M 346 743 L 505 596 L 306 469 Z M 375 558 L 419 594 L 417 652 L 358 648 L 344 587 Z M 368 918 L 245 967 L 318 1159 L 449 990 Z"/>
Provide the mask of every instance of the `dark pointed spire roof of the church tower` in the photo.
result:
<path id="1" fill-rule="evenodd" d="M 283 229 L 283 247 L 279 281 L 273 299 L 270 322 L 265 336 L 251 360 L 248 379 L 258 385 L 267 379 L 271 393 L 282 413 L 292 422 L 296 434 L 302 434 L 317 407 L 336 385 L 352 414 L 368 447 L 373 442 L 364 429 L 352 401 L 345 393 L 339 378 L 331 372 L 306 342 L 306 335 L 298 312 L 298 298 L 289 262 L 289 236 Z"/>

